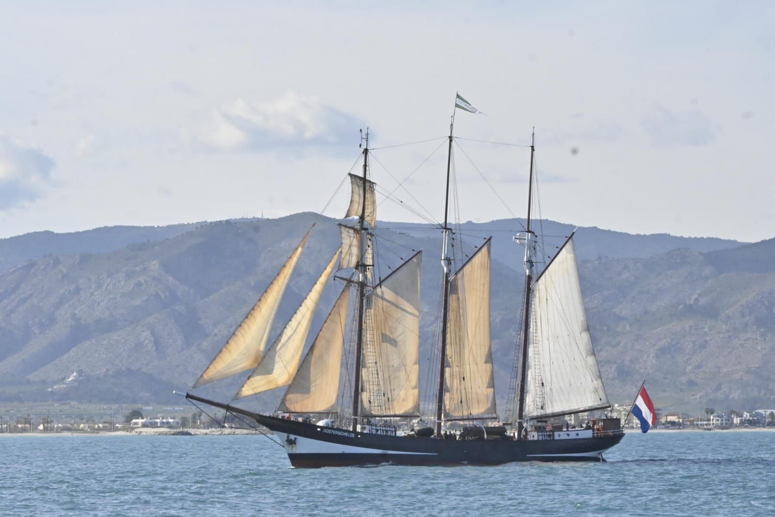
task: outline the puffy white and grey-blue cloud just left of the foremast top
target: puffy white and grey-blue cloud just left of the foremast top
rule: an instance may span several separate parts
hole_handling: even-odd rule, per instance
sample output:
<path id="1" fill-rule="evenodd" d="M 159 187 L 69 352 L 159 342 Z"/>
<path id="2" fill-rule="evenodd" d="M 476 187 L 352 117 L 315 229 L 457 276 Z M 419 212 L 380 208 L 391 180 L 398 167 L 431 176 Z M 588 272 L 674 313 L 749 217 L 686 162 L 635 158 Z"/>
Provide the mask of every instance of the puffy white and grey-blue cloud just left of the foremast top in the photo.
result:
<path id="1" fill-rule="evenodd" d="M 325 105 L 314 97 L 288 92 L 274 102 L 253 103 L 243 98 L 215 110 L 208 126 L 195 139 L 218 150 L 267 150 L 352 143 L 356 117 Z"/>

